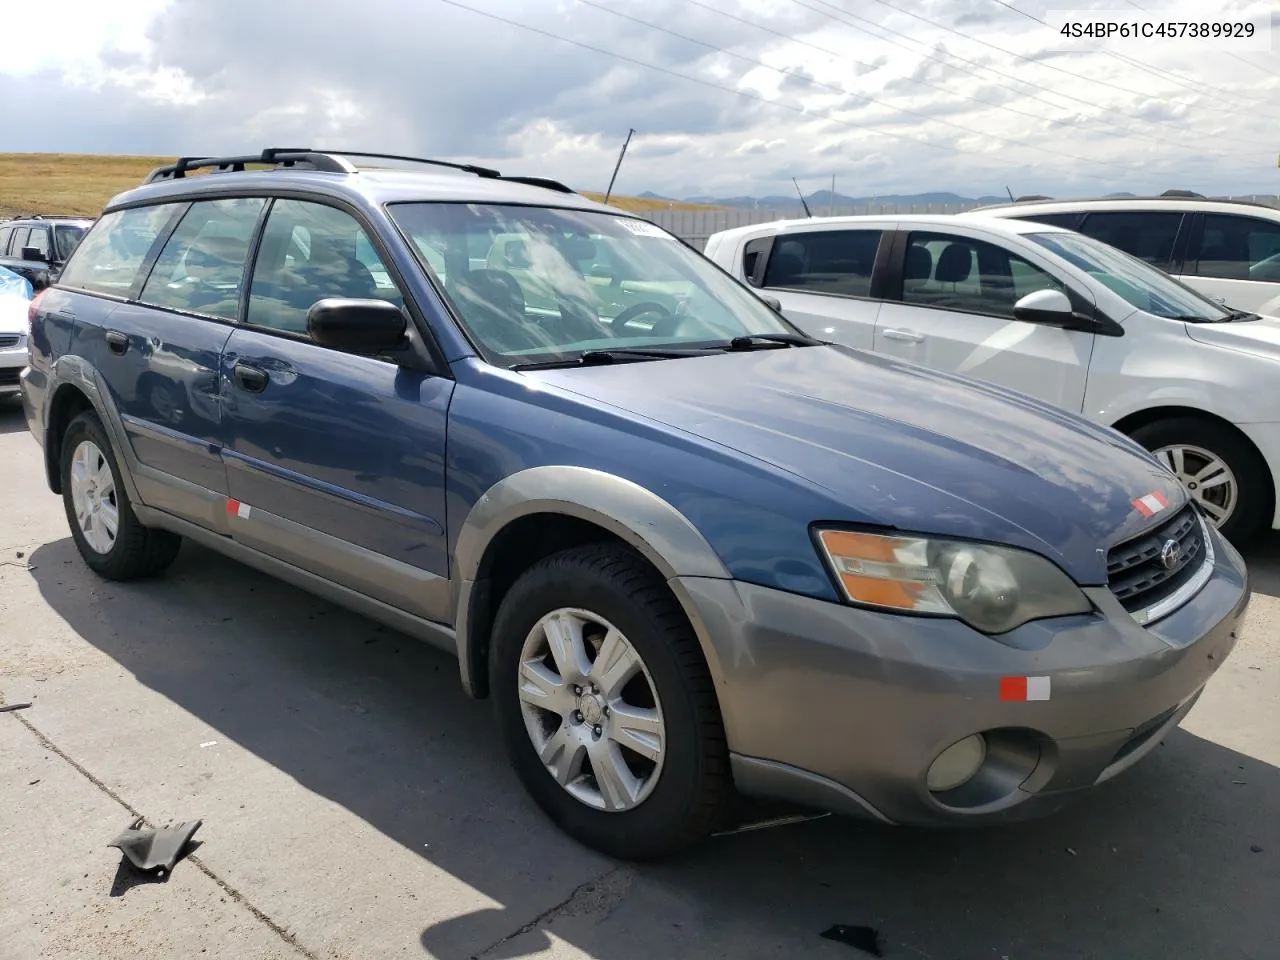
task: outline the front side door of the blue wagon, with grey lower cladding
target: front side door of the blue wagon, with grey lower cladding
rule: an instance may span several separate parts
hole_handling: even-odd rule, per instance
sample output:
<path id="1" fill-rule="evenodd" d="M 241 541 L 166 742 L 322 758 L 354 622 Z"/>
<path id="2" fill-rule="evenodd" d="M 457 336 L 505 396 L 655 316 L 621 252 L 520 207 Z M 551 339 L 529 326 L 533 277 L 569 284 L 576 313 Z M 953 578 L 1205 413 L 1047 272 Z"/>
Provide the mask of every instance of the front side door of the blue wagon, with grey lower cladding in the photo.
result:
<path id="1" fill-rule="evenodd" d="M 307 335 L 326 297 L 404 305 L 353 211 L 275 200 L 223 353 L 232 535 L 428 620 L 451 617 L 444 436 L 453 380 Z"/>

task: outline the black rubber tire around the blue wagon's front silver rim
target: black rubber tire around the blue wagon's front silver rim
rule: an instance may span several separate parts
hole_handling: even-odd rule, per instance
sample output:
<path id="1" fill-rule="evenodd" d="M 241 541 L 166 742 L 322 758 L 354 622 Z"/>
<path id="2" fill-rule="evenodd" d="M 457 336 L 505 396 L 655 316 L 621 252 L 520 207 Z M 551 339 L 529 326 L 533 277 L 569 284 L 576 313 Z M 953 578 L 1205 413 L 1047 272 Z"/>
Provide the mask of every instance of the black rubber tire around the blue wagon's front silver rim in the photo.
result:
<path id="1" fill-rule="evenodd" d="M 639 655 L 640 667 L 632 681 L 622 687 L 625 695 L 608 700 L 613 709 L 604 710 L 602 727 L 595 728 L 604 731 L 600 736 L 593 736 L 588 726 L 594 721 L 593 713 L 599 718 L 600 708 L 586 684 L 603 677 L 599 686 L 605 698 L 612 684 L 607 682 L 609 671 L 596 669 L 600 648 L 593 648 L 591 643 L 584 644 L 588 657 L 594 655 L 595 660 L 590 664 L 594 673 L 584 676 L 585 699 L 573 695 L 571 681 L 562 689 L 563 696 L 554 700 L 557 709 L 553 712 L 527 707 L 522 695 L 522 687 L 530 689 L 525 663 L 530 646 L 526 644 L 545 636 L 540 623 L 548 614 L 567 609 L 612 625 Z M 584 635 L 588 639 L 599 636 L 602 628 L 588 621 Z M 622 659 L 618 657 L 614 662 Z M 554 658 L 545 662 L 556 663 Z M 622 547 L 598 544 L 557 553 L 532 566 L 512 585 L 494 620 L 490 689 L 507 754 L 525 788 L 561 829 L 600 852 L 641 861 L 671 856 L 703 840 L 733 796 L 724 728 L 698 637 L 657 571 Z M 540 687 L 534 685 L 534 689 Z M 641 735 L 648 739 L 639 742 L 646 749 L 660 744 L 658 760 L 622 749 L 614 739 L 636 742 L 625 728 L 626 721 L 620 718 L 628 710 L 632 716 L 648 710 L 643 705 L 648 703 L 645 690 L 655 700 L 662 732 Z M 637 703 L 641 705 L 635 705 Z M 575 705 L 582 707 L 580 723 L 568 712 Z M 652 717 L 654 710 L 645 716 Z M 536 719 L 530 721 L 534 714 Z M 554 726 L 557 721 L 558 727 Z M 639 769 L 636 782 L 645 786 L 634 805 L 626 806 L 632 797 L 617 804 L 622 788 L 607 791 L 604 782 L 595 777 L 594 765 L 590 776 L 562 786 L 544 764 L 534 740 L 536 732 L 549 742 L 554 735 L 548 731 L 553 727 L 556 733 L 563 728 L 567 736 L 581 737 L 581 742 L 603 744 L 607 755 L 622 756 L 631 772 Z M 590 756 L 582 762 L 584 774 L 589 763 Z M 645 771 L 648 776 L 643 776 Z M 612 782 L 622 783 L 623 780 L 614 773 Z M 613 803 L 614 809 L 603 809 L 600 803 L 605 806 Z"/>

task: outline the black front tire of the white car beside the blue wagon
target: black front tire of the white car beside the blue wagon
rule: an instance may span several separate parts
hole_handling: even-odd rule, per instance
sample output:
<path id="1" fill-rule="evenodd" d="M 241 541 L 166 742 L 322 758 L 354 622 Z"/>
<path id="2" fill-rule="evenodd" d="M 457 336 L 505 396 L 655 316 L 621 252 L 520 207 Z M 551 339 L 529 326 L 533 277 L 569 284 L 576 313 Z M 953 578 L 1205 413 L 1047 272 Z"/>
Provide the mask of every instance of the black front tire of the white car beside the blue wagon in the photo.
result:
<path id="1" fill-rule="evenodd" d="M 1234 430 L 1197 417 L 1174 417 L 1139 426 L 1130 435 L 1179 474 L 1188 493 L 1206 507 L 1206 515 L 1211 518 L 1212 508 L 1221 509 L 1226 506 L 1221 502 L 1222 490 L 1198 488 L 1194 474 L 1198 472 L 1197 466 L 1203 463 L 1201 453 L 1226 465 L 1234 479 L 1234 484 L 1230 484 L 1234 486 L 1234 499 L 1225 520 L 1215 520 L 1215 525 L 1236 547 L 1271 527 L 1275 508 L 1271 471 L 1253 445 Z M 1178 470 L 1178 456 L 1174 453 L 1178 449 L 1184 452 L 1183 472 Z"/>

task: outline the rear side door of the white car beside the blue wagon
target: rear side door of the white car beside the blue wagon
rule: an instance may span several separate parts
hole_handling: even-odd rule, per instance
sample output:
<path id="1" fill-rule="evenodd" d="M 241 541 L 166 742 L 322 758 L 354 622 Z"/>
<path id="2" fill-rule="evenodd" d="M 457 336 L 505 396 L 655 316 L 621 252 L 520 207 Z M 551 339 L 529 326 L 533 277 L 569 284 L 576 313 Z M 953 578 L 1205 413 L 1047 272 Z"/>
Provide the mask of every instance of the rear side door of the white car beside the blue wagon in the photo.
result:
<path id="1" fill-rule="evenodd" d="M 876 266 L 888 257 L 891 233 L 859 225 L 760 237 L 742 248 L 744 270 L 810 337 L 870 349 L 881 308 Z"/>

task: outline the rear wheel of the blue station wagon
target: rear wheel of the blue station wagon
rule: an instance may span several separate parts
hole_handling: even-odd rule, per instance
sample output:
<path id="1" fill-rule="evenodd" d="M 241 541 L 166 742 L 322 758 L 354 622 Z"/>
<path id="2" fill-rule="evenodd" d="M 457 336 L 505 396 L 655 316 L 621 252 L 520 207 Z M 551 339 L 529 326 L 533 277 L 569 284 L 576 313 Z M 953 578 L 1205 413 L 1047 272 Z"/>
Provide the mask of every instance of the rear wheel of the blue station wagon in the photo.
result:
<path id="1" fill-rule="evenodd" d="M 77 457 L 81 456 L 81 463 Z M 78 516 L 77 492 L 86 484 L 76 474 L 87 467 L 97 480 L 88 485 L 87 503 L 99 503 L 100 509 L 86 511 L 87 521 Z M 63 506 L 72 538 L 84 563 L 95 573 L 108 580 L 137 580 L 156 576 L 173 563 L 182 547 L 182 538 L 166 530 L 142 526 L 133 513 L 129 495 L 120 483 L 120 467 L 115 461 L 111 442 L 102 421 L 92 411 L 81 413 L 67 426 L 61 442 Z M 106 477 L 110 477 L 110 493 Z M 110 517 L 115 517 L 115 531 L 110 531 Z"/>

